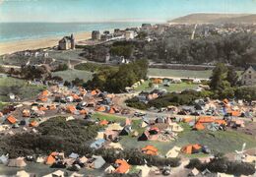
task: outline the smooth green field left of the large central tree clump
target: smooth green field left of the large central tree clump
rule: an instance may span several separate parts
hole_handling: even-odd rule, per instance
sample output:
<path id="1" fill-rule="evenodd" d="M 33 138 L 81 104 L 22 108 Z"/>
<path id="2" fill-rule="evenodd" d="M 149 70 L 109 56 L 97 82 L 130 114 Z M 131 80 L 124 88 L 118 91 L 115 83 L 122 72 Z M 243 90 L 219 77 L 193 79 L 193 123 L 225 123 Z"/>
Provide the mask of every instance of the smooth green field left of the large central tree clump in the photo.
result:
<path id="1" fill-rule="evenodd" d="M 91 72 L 82 71 L 82 70 L 66 70 L 52 73 L 52 76 L 59 76 L 64 81 L 71 82 L 75 78 L 79 78 L 87 82 L 93 78 L 93 74 Z"/>

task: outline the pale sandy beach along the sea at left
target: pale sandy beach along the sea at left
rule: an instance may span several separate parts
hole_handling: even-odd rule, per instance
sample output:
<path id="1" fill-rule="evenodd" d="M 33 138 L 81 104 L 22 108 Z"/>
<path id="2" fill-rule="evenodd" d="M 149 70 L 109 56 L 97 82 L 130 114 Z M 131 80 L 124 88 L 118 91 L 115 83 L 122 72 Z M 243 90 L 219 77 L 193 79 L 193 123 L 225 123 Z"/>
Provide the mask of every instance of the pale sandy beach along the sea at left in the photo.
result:
<path id="1" fill-rule="evenodd" d="M 87 40 L 92 37 L 91 32 L 79 32 L 74 33 L 76 41 Z M 19 40 L 10 42 L 0 42 L 0 55 L 7 53 L 14 53 L 17 51 L 27 50 L 27 49 L 38 49 L 46 48 L 58 45 L 58 41 L 61 36 L 46 37 L 39 39 L 30 40 Z"/>

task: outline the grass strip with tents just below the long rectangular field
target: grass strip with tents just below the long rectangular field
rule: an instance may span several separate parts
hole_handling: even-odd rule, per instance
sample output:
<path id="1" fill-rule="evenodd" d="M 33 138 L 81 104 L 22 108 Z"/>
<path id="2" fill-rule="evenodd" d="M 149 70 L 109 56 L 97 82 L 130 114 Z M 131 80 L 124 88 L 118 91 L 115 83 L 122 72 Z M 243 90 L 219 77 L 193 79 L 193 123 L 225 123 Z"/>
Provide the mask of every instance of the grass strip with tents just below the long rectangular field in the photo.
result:
<path id="1" fill-rule="evenodd" d="M 144 82 L 141 86 L 136 88 L 136 91 L 141 91 L 141 90 L 151 90 L 153 88 L 149 88 L 149 83 L 150 81 Z M 188 83 L 180 83 L 180 84 L 170 84 L 169 87 L 164 87 L 162 84 L 159 85 L 160 89 L 166 89 L 169 92 L 172 91 L 182 91 L 184 89 L 196 89 L 199 85 L 196 84 L 188 84 Z"/>

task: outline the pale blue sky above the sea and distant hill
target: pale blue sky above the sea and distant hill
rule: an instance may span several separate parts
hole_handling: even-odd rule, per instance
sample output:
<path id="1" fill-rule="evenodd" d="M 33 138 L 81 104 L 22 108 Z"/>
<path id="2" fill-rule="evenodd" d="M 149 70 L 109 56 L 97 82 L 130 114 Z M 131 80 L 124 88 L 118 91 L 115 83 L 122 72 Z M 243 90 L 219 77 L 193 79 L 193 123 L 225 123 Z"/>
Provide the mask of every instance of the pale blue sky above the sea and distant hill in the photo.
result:
<path id="1" fill-rule="evenodd" d="M 164 22 L 193 13 L 256 14 L 256 0 L 0 0 L 0 22 Z"/>

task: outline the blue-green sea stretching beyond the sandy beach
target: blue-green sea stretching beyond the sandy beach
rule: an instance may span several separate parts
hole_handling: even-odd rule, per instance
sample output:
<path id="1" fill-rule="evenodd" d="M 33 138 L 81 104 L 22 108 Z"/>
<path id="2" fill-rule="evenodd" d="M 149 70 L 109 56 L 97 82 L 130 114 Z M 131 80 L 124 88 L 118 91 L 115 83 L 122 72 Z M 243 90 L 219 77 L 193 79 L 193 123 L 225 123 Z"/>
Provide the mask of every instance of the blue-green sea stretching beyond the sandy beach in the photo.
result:
<path id="1" fill-rule="evenodd" d="M 0 23 L 0 42 L 62 36 L 72 32 L 126 29 L 142 23 Z"/>

